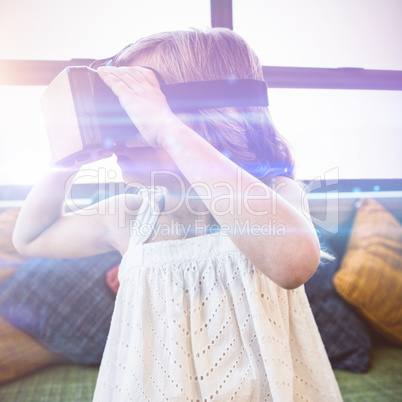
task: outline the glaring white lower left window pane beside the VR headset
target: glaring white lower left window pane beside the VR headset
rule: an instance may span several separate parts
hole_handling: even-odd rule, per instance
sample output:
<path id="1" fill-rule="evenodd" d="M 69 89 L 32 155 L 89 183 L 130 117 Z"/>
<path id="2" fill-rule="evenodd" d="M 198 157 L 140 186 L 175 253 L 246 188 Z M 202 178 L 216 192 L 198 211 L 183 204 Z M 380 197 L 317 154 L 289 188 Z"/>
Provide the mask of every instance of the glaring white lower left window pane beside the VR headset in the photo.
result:
<path id="1" fill-rule="evenodd" d="M 48 169 L 51 153 L 40 98 L 44 87 L 0 87 L 0 184 L 37 182 Z M 76 182 L 97 182 L 98 171 L 107 181 L 121 181 L 115 158 L 85 166 Z M 102 168 L 102 169 L 100 169 Z M 91 170 L 92 173 L 88 174 Z"/>

